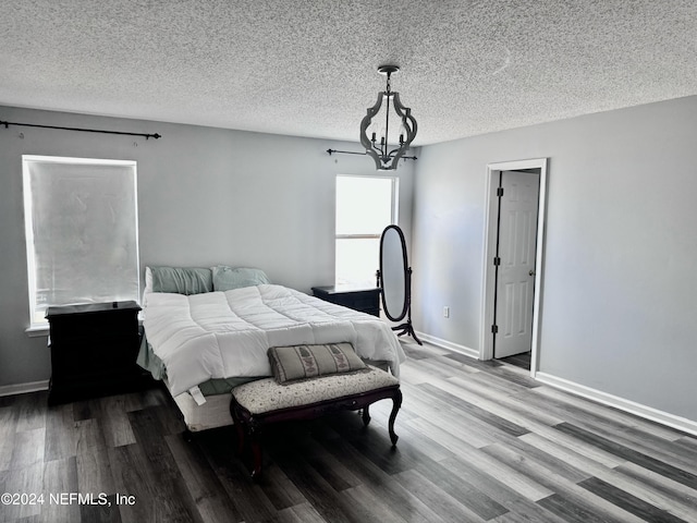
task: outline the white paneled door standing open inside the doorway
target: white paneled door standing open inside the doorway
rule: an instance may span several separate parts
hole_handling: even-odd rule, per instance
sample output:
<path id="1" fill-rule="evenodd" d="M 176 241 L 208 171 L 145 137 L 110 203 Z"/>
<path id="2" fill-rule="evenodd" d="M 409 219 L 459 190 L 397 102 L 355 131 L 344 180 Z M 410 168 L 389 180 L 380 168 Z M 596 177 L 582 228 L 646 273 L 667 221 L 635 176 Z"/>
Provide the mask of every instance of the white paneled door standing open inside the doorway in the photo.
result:
<path id="1" fill-rule="evenodd" d="M 506 357 L 533 343 L 540 175 L 502 171 L 500 187 L 493 356 Z"/>

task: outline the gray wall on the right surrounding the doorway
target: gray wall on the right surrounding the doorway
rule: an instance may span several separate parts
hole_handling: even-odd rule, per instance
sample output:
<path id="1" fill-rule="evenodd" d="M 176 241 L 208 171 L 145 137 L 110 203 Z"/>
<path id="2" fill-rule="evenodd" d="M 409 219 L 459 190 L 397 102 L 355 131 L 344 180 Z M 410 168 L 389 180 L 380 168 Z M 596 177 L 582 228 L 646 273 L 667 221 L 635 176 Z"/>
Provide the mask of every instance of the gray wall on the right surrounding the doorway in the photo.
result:
<path id="1" fill-rule="evenodd" d="M 479 351 L 487 163 L 548 157 L 539 370 L 697 421 L 696 122 L 687 97 L 424 147 L 416 329 Z"/>

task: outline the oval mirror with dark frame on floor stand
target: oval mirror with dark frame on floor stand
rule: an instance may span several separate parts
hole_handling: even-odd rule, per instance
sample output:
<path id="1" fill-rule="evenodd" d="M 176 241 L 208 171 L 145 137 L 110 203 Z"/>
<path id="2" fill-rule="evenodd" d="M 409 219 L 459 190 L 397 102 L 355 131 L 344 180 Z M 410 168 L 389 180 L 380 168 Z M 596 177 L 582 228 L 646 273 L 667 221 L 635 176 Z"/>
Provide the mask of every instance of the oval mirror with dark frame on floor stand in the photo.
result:
<path id="1" fill-rule="evenodd" d="M 402 229 L 388 226 L 380 239 L 382 309 L 390 321 L 401 321 L 408 309 L 408 267 Z"/>

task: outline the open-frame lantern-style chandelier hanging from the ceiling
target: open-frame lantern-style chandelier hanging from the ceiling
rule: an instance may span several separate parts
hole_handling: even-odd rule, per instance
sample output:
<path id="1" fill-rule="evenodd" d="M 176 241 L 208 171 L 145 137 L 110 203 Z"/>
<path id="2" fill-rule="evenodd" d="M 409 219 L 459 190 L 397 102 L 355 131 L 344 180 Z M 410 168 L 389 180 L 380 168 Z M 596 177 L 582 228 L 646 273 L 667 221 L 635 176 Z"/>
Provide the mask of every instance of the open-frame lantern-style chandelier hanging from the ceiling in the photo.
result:
<path id="1" fill-rule="evenodd" d="M 408 150 L 409 144 L 416 137 L 416 119 L 412 110 L 400 101 L 400 94 L 390 89 L 390 75 L 400 71 L 396 65 L 380 65 L 378 72 L 388 76 L 387 87 L 378 93 L 378 101 L 368 108 L 368 113 L 360 121 L 360 144 L 366 154 L 374 160 L 379 171 L 396 169 L 400 158 Z M 384 110 L 380 111 L 384 104 Z M 390 107 L 392 106 L 392 107 Z M 393 108 L 401 122 L 395 130 L 390 129 L 390 109 Z M 399 147 L 390 149 L 392 144 Z"/>

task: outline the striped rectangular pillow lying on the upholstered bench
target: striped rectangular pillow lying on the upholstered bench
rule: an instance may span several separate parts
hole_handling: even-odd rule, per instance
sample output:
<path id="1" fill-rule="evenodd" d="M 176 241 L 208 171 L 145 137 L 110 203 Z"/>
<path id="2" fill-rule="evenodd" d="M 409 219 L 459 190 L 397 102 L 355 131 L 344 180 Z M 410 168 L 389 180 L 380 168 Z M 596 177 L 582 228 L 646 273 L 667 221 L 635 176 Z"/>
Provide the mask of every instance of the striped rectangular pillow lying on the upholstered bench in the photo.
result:
<path id="1" fill-rule="evenodd" d="M 351 343 L 272 346 L 268 356 L 279 384 L 368 368 Z"/>

